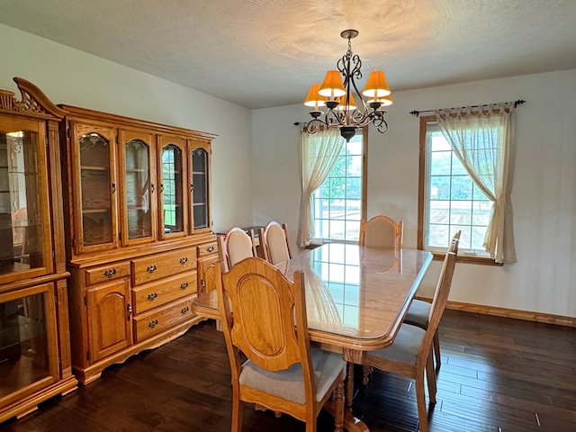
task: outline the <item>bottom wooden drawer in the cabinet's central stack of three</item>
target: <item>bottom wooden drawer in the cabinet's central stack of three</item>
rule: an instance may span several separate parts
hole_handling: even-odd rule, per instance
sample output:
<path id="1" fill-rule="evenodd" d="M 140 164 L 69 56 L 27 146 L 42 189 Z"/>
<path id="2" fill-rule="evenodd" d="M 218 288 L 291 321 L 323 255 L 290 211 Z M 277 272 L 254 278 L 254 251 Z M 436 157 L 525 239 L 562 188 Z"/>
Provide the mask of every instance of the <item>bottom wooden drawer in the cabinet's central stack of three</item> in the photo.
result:
<path id="1" fill-rule="evenodd" d="M 193 317 L 192 300 L 193 297 L 188 297 L 182 302 L 170 303 L 160 311 L 134 317 L 136 342 L 174 327 L 182 321 L 190 320 Z"/>

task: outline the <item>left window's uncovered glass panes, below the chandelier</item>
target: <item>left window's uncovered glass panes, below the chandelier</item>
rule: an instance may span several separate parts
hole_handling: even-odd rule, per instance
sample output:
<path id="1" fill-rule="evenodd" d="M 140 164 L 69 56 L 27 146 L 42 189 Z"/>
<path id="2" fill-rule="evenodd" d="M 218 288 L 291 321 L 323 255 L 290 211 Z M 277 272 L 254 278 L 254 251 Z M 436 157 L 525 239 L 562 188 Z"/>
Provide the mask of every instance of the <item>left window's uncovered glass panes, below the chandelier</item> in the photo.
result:
<path id="1" fill-rule="evenodd" d="M 356 133 L 338 156 L 329 177 L 313 193 L 314 237 L 358 241 L 365 216 L 366 131 Z"/>

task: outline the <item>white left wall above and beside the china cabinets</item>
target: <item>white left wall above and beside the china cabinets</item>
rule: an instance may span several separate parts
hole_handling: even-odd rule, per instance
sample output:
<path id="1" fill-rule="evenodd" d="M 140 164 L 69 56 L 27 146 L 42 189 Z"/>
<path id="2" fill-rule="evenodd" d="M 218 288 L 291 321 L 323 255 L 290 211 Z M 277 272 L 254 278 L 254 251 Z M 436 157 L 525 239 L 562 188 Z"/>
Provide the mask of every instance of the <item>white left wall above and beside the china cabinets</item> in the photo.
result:
<path id="1" fill-rule="evenodd" d="M 214 229 L 252 224 L 251 111 L 0 24 L 0 88 L 20 76 L 54 103 L 218 134 L 212 141 Z"/>

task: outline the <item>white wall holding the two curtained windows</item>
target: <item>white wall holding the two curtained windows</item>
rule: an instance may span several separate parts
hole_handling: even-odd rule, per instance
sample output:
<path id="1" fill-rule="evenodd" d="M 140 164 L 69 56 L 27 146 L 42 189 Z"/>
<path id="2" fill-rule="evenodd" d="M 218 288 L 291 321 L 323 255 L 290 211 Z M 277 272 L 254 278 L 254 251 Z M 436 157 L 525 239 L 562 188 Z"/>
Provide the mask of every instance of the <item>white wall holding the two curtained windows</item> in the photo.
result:
<path id="1" fill-rule="evenodd" d="M 576 69 L 392 95 L 390 130 L 371 129 L 369 137 L 368 216 L 404 220 L 406 247 L 416 247 L 418 223 L 419 119 L 409 112 L 527 100 L 517 111 L 512 192 L 518 263 L 458 264 L 450 300 L 575 317 Z M 287 222 L 293 245 L 301 189 L 299 130 L 292 123 L 307 117 L 302 105 L 253 112 L 255 222 Z M 438 272 L 435 262 L 420 295 L 432 295 Z"/>

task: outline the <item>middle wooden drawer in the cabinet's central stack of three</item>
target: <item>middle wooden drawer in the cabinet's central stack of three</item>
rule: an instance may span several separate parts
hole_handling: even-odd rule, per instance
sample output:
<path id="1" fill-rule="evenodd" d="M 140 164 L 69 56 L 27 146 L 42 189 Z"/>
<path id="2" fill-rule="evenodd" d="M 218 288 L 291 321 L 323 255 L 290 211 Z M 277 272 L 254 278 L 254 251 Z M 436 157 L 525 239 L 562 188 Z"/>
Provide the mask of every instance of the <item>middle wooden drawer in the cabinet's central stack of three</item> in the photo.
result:
<path id="1" fill-rule="evenodd" d="M 196 293 L 196 272 L 175 275 L 132 289 L 134 312 L 142 313 Z"/>

